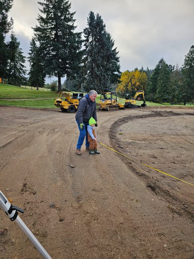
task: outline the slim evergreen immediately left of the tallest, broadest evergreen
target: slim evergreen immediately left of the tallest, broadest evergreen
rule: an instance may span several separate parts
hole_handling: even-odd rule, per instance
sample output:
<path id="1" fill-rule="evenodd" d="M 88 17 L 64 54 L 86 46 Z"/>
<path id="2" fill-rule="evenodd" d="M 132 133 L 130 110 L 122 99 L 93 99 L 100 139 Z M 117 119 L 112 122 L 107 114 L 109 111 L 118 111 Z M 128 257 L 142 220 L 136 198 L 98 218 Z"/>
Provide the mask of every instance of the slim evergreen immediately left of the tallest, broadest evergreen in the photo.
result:
<path id="1" fill-rule="evenodd" d="M 38 90 L 39 87 L 44 87 L 46 75 L 43 71 L 41 59 L 42 54 L 40 53 L 34 38 L 32 38 L 32 41 L 30 42 L 30 50 L 28 55 L 28 61 L 30 64 L 28 82 L 30 86 L 36 87 Z"/>

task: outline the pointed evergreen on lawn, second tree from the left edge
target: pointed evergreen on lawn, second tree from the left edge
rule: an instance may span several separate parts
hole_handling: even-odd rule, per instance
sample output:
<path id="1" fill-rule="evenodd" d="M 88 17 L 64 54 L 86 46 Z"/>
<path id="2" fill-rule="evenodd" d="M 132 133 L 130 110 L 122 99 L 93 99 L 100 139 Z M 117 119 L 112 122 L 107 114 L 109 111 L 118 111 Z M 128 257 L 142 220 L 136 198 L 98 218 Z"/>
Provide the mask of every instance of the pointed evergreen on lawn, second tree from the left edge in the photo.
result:
<path id="1" fill-rule="evenodd" d="M 19 46 L 20 42 L 12 32 L 11 41 L 8 42 L 8 82 L 14 85 L 26 82 L 25 56 Z"/>

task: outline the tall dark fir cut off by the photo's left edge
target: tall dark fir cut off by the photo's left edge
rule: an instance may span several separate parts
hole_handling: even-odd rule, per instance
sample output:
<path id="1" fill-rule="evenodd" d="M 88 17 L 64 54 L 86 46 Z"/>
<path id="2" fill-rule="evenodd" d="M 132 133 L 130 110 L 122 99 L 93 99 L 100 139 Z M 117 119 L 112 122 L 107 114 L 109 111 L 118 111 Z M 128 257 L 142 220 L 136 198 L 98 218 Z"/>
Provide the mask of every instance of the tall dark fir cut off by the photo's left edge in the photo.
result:
<path id="1" fill-rule="evenodd" d="M 7 34 L 13 25 L 12 17 L 8 19 L 8 13 L 12 8 L 13 0 L 0 1 L 0 78 L 7 78 L 8 48 L 5 43 L 5 34 Z"/>

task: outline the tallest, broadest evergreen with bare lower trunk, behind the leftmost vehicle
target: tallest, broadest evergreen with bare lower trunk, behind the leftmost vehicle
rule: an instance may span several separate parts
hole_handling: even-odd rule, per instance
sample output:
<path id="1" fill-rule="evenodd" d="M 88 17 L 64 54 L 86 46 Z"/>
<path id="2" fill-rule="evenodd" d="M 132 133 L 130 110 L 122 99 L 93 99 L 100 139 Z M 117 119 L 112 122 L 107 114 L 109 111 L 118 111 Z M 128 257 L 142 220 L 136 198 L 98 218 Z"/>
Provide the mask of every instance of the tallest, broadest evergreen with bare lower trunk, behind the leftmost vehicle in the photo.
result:
<path id="1" fill-rule="evenodd" d="M 70 12 L 71 3 L 67 0 L 45 0 L 38 2 L 43 16 L 38 15 L 39 26 L 34 34 L 40 44 L 45 73 L 58 77 L 58 91 L 61 90 L 61 77 L 78 74 L 81 63 L 81 33 L 74 32 L 76 21 Z"/>

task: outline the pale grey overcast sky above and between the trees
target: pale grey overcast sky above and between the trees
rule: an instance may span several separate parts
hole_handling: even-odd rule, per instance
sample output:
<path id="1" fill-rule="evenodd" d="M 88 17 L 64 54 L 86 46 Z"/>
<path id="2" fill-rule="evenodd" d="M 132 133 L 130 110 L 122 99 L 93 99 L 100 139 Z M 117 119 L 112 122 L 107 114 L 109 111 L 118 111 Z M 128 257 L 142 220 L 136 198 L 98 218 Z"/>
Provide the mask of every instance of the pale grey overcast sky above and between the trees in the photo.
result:
<path id="1" fill-rule="evenodd" d="M 9 12 L 26 56 L 33 36 L 31 27 L 38 24 L 39 7 L 36 0 L 14 0 Z M 168 64 L 182 66 L 194 45 L 193 0 L 72 0 L 71 11 L 76 11 L 77 31 L 86 27 L 89 11 L 101 15 L 115 40 L 122 72 L 142 65 L 153 69 L 161 57 Z"/>

